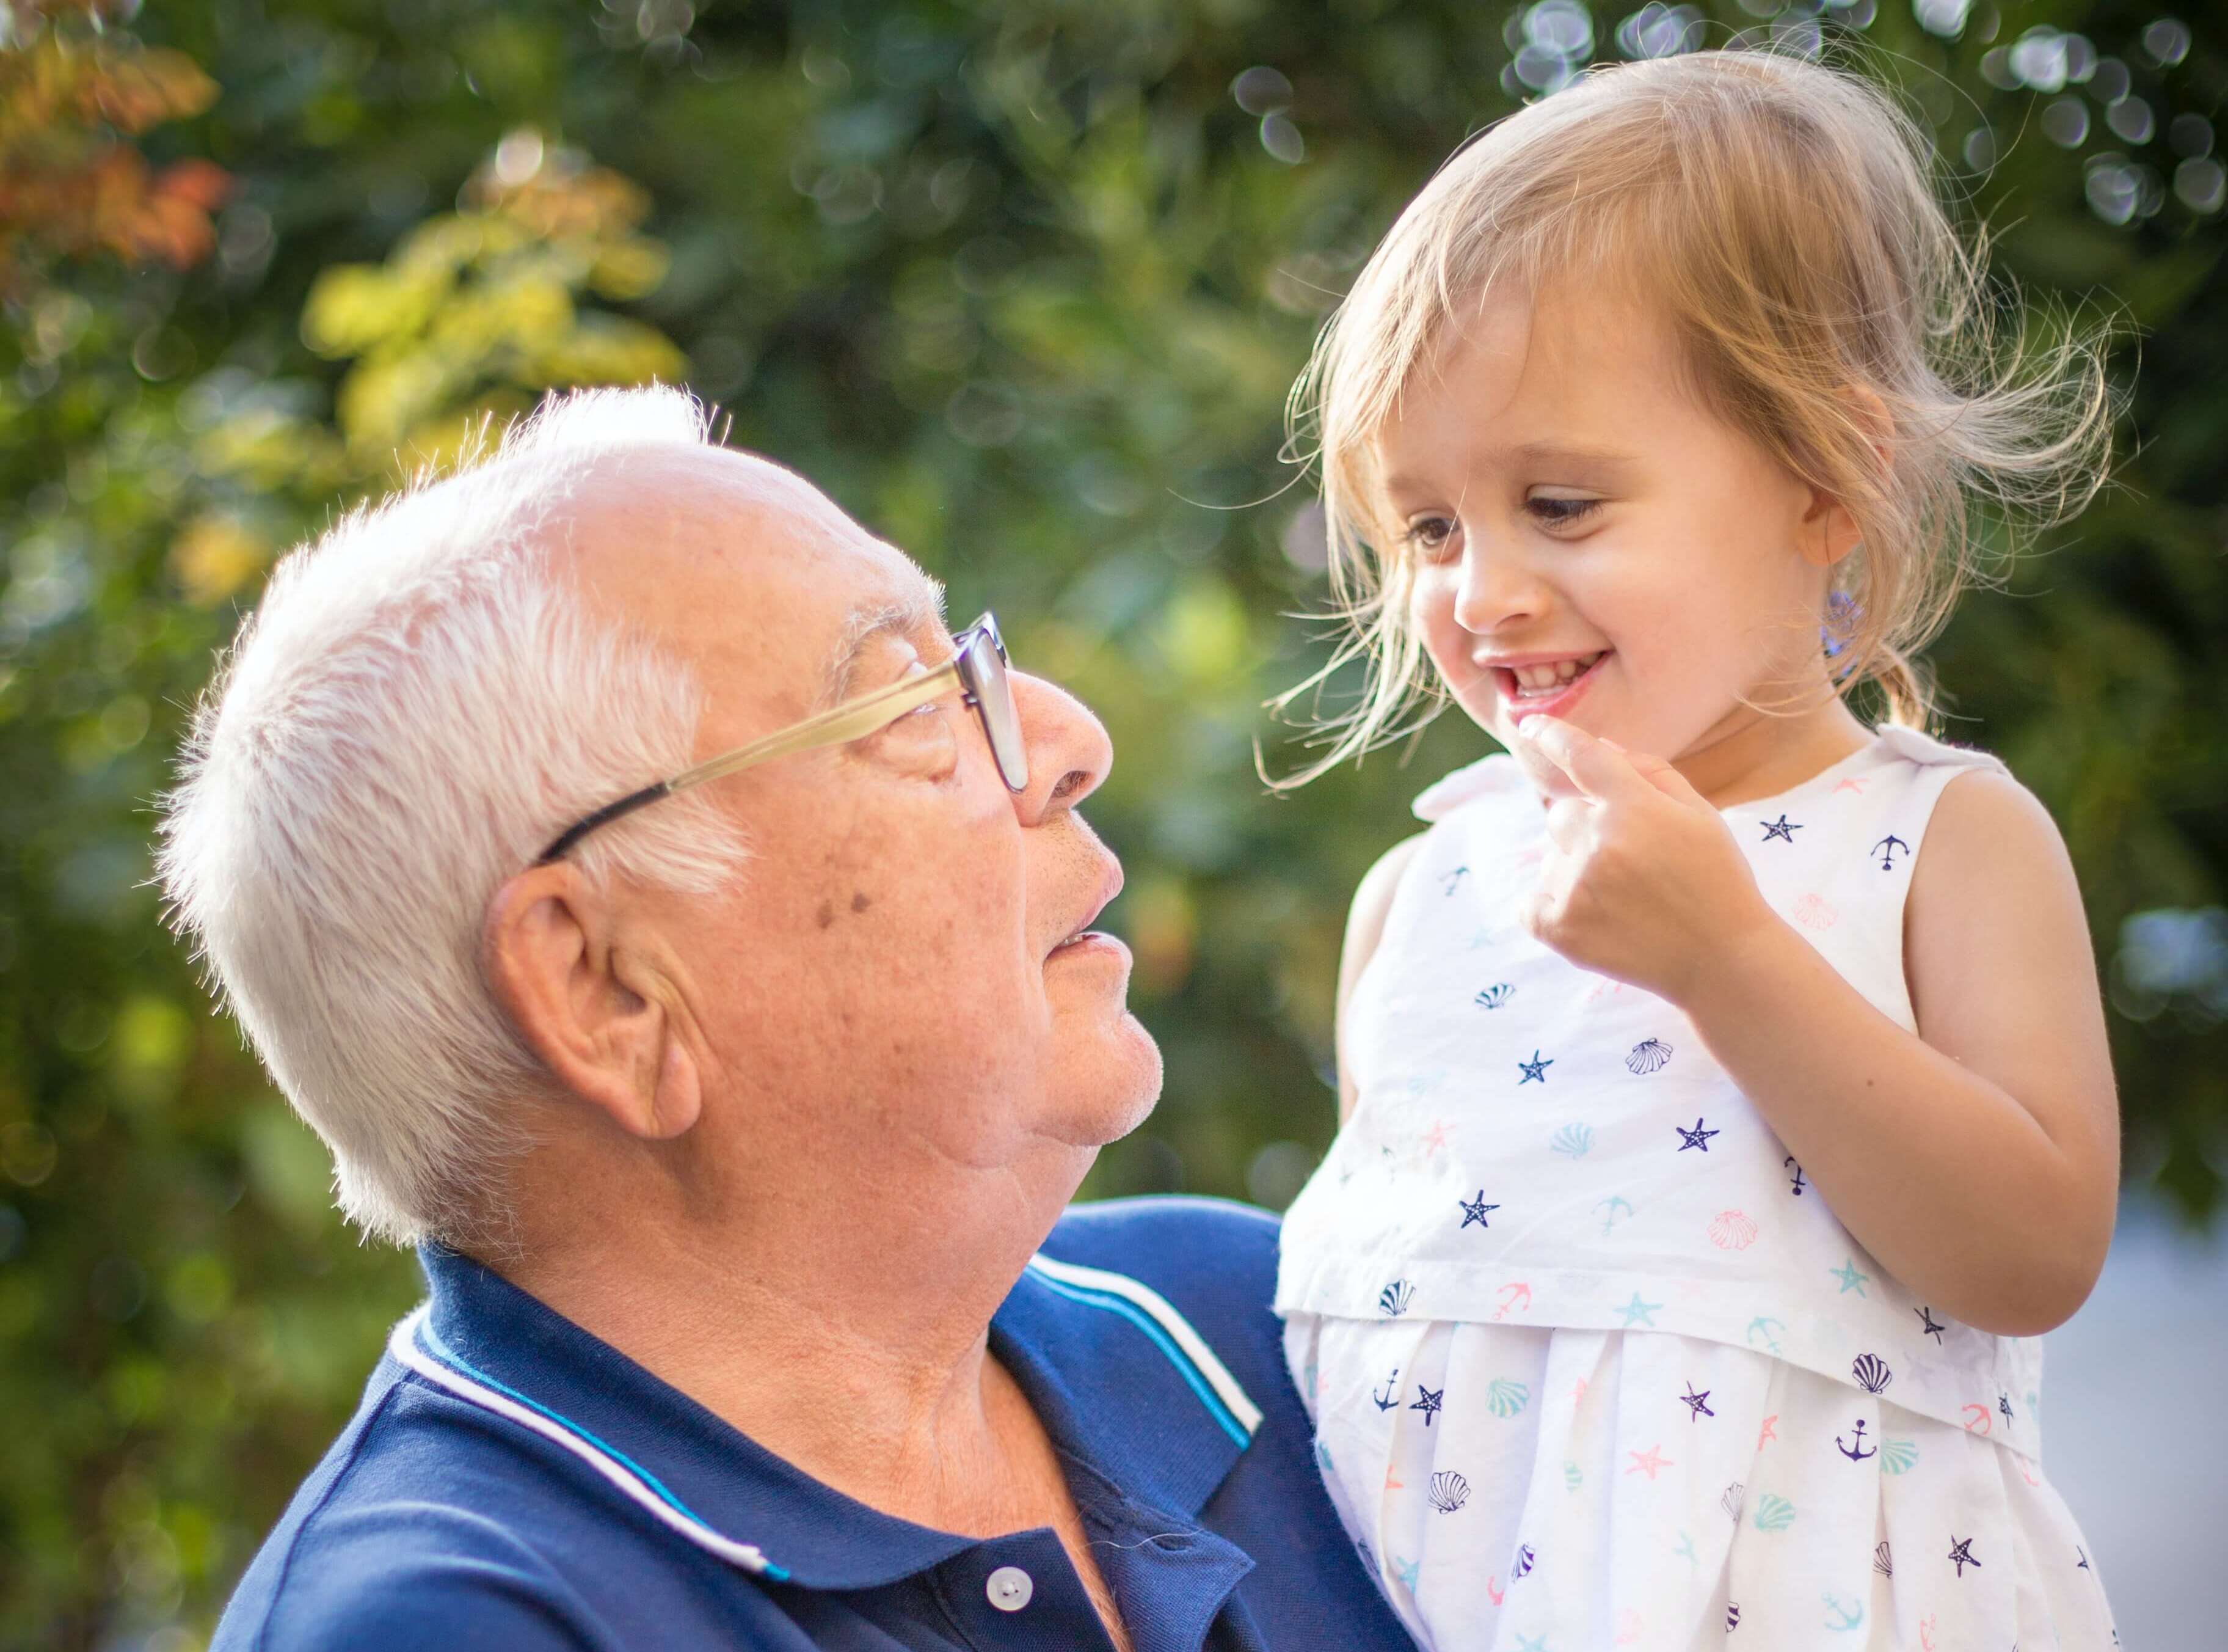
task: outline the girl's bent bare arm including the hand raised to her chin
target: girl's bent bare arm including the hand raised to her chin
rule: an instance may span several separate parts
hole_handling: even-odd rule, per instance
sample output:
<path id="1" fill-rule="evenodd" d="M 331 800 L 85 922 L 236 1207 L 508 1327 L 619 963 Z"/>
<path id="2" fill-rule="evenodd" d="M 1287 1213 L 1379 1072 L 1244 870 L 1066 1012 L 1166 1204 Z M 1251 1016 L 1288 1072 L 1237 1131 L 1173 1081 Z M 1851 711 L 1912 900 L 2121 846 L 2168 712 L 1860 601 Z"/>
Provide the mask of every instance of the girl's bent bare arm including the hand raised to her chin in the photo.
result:
<path id="1" fill-rule="evenodd" d="M 2005 1335 L 2081 1306 L 2112 1237 L 2119 1101 L 2081 892 L 2041 803 L 1992 771 L 1943 787 L 1905 905 L 1914 1037 L 1765 903 L 1675 767 L 1555 718 L 1524 736 L 1577 787 L 1548 807 L 1531 934 L 1680 1005 L 1923 1302 Z"/>

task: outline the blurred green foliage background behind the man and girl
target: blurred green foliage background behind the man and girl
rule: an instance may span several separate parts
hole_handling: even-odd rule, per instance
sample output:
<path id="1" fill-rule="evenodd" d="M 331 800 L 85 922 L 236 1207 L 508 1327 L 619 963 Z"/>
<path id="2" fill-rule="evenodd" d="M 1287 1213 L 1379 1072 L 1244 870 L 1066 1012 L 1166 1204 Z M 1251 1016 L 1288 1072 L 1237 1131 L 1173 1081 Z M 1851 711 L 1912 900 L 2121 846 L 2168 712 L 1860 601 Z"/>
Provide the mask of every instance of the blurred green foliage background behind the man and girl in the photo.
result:
<path id="1" fill-rule="evenodd" d="M 1954 738 L 2001 751 L 2072 845 L 2128 1173 L 2203 1219 L 2228 1168 L 2228 927 L 2203 916 L 2228 878 L 2228 236 L 2172 190 L 2166 132 L 2217 111 L 2228 33 L 2192 18 L 2177 56 L 2117 0 L 1925 11 L 1934 33 L 1905 0 L 1823 22 L 1907 85 L 2005 272 L 2141 328 L 2123 486 L 1934 660 Z M 0 328 L 0 1645 L 198 1645 L 414 1295 L 408 1257 L 341 1231 L 321 1150 L 160 930 L 149 800 L 270 557 L 392 482 L 397 448 L 439 455 L 459 417 L 544 386 L 684 377 L 1103 713 L 1121 760 L 1094 818 L 1130 867 L 1112 916 L 1167 1092 L 1087 1193 L 1290 1197 L 1332 1126 L 1346 898 L 1406 798 L 1484 740 L 1442 720 L 1406 769 L 1263 796 L 1261 700 L 1319 658 L 1290 613 L 1323 595 L 1279 410 L 1399 203 L 1526 94 L 1522 18 L 109 11 L 111 47 L 176 49 L 218 89 L 140 147 L 234 192 L 196 268 L 56 256 Z M 1816 18 L 1802 0 L 1778 27 Z M 1615 25 L 1593 20 L 1595 56 Z M 1769 27 L 1707 13 L 1711 42 Z M 2085 143 L 2048 140 L 2039 111 L 2083 89 L 1985 65 L 2036 27 L 2123 60 L 2157 136 L 2090 109 Z M 0 54 L 36 31 L 36 7 L 0 7 Z M 1248 109 L 1257 67 L 1283 85 L 1243 82 Z M 2128 223 L 2110 183 L 2139 174 L 2097 181 L 2114 145 L 2150 167 Z"/>

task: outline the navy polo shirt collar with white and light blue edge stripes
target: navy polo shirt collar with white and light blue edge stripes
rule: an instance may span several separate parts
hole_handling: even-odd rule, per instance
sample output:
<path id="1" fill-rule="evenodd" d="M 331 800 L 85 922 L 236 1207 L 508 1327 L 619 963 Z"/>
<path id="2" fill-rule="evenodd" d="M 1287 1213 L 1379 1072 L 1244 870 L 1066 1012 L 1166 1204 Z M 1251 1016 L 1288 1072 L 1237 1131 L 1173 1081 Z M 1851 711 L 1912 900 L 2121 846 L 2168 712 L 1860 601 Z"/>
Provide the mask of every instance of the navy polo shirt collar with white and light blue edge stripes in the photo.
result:
<path id="1" fill-rule="evenodd" d="M 815 1590 L 867 1590 L 978 1543 L 813 1480 L 479 1262 L 441 1246 L 419 1255 L 432 1300 L 397 1327 L 397 1358 L 450 1391 L 477 1387 L 466 1398 L 495 1398 L 490 1409 L 564 1445 L 606 1480 L 639 1476 L 648 1494 L 628 1491 L 637 1503 L 668 1525 L 695 1523 L 749 1570 Z M 1130 1505 L 1192 1520 L 1237 1465 L 1250 1418 L 1241 1398 L 1237 1416 L 1230 1402 L 1212 1402 L 1196 1364 L 1170 1358 L 1181 1349 L 1170 1347 L 1167 1327 L 1147 1320 L 1094 1280 L 1032 1266 L 991 1318 L 989 1340 L 1072 1460 L 1078 1503 L 1103 1500 L 1112 1485 Z M 762 1565 L 749 1563 L 753 1554 Z"/>

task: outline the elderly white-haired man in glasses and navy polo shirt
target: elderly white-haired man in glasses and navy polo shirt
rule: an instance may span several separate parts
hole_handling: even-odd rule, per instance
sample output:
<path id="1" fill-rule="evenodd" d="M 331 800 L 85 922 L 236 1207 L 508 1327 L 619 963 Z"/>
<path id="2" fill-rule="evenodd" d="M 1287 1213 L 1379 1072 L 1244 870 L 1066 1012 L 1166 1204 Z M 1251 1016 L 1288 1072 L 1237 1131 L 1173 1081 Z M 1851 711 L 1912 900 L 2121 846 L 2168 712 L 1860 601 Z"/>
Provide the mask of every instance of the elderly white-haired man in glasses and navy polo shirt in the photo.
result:
<path id="1" fill-rule="evenodd" d="M 1404 1648 L 1159 1092 L 1105 731 L 677 392 L 290 557 L 163 878 L 430 1302 L 218 1648 Z"/>

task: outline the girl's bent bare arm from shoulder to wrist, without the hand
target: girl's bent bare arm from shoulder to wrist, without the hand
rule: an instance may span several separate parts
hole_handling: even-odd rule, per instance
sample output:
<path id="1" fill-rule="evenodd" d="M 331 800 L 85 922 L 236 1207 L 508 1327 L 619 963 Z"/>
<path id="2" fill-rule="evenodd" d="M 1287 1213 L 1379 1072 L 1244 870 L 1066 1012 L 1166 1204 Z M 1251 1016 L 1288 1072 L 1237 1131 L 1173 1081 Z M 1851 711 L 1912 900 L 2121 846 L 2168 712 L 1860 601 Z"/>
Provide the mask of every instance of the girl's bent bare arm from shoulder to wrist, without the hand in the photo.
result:
<path id="1" fill-rule="evenodd" d="M 1903 961 L 1918 1037 L 1776 916 L 1680 1008 L 1880 1266 L 1941 1313 L 2039 1335 L 2103 1266 L 2119 1099 L 2072 861 L 2010 776 L 1943 787 Z"/>

